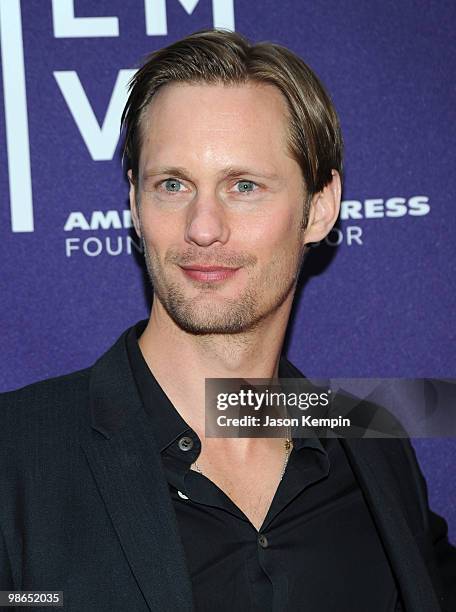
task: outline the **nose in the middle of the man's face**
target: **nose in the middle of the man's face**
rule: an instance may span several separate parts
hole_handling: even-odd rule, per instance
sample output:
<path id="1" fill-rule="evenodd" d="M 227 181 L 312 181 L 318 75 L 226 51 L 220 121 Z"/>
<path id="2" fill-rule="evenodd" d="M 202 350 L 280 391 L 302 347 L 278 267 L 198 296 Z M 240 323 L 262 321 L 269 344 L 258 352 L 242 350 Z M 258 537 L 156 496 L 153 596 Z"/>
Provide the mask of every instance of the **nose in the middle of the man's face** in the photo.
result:
<path id="1" fill-rule="evenodd" d="M 226 243 L 230 235 L 226 211 L 215 194 L 198 194 L 187 208 L 186 242 L 210 246 Z"/>

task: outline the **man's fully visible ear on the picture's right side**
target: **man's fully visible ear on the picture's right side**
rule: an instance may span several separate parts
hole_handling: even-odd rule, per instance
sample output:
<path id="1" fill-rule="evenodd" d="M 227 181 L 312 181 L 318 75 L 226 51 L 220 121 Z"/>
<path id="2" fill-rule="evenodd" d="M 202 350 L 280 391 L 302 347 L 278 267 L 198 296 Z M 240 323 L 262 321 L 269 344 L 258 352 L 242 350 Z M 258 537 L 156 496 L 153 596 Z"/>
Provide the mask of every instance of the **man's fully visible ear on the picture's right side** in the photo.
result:
<path id="1" fill-rule="evenodd" d="M 331 170 L 331 182 L 310 203 L 309 221 L 304 232 L 304 244 L 320 242 L 333 228 L 340 211 L 342 185 L 340 174 Z"/>

